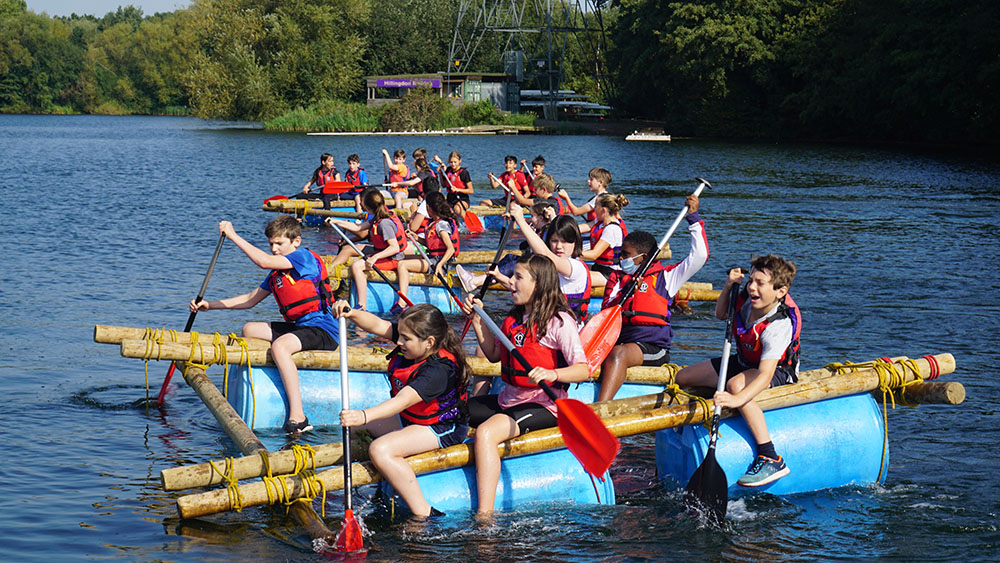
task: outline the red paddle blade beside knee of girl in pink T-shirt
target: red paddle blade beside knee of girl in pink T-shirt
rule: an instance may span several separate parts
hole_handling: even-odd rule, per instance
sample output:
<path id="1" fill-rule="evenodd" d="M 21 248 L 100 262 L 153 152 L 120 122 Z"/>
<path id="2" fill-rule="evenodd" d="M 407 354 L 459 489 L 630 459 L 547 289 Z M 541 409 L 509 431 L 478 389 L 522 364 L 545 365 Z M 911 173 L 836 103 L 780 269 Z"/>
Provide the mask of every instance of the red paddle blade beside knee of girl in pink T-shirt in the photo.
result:
<path id="1" fill-rule="evenodd" d="M 618 456 L 621 444 L 597 413 L 576 399 L 559 399 L 557 421 L 566 448 L 583 469 L 600 479 Z"/>

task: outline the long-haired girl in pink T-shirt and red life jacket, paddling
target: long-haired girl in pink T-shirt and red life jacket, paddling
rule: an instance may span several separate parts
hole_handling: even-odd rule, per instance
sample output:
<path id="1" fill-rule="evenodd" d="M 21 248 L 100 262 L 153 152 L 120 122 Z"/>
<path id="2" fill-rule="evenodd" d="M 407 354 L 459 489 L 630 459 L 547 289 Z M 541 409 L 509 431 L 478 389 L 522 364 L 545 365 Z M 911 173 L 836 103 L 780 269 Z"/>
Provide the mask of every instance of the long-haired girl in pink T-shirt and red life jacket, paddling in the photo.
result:
<path id="1" fill-rule="evenodd" d="M 533 430 L 556 425 L 556 404 L 538 386 L 551 383 L 556 395 L 567 396 L 570 383 L 584 381 L 590 374 L 573 312 L 559 290 L 559 273 L 545 256 L 522 256 L 514 268 L 514 307 L 501 326 L 514 346 L 531 362 L 521 365 L 493 334 L 482 318 L 473 317 L 472 326 L 483 354 L 491 362 L 500 362 L 501 378 L 506 386 L 499 395 L 487 395 L 489 382 L 477 381 L 476 395 L 469 399 L 470 425 L 476 428 L 476 490 L 478 514 L 487 516 L 496 504 L 500 479 L 500 454 L 497 446 Z M 474 315 L 469 296 L 463 311 Z"/>

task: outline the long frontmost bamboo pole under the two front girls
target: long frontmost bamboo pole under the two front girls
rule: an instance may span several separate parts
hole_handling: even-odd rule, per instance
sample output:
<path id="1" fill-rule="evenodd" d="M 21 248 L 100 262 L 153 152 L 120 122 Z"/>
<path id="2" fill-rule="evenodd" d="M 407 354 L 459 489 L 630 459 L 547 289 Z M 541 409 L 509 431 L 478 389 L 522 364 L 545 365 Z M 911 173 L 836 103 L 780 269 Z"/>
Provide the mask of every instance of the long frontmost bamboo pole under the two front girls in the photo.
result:
<path id="1" fill-rule="evenodd" d="M 954 371 L 955 359 L 951 354 L 939 354 L 935 358 L 940 374 Z M 920 377 L 930 375 L 931 368 L 927 360 L 921 358 L 916 360 L 915 364 L 920 373 L 914 374 L 909 370 L 904 370 L 900 383 L 914 381 L 918 375 Z M 864 369 L 837 377 L 819 378 L 808 383 L 774 387 L 763 391 L 755 400 L 763 410 L 769 411 L 864 393 L 877 389 L 879 384 L 878 372 L 875 369 Z M 697 401 L 614 416 L 604 419 L 604 424 L 615 436 L 631 436 L 704 422 L 708 419 L 712 408 L 712 401 Z M 738 412 L 732 409 L 723 409 L 722 416 L 725 418 L 738 416 Z M 507 440 L 498 446 L 498 450 L 501 457 L 513 457 L 561 447 L 565 447 L 565 445 L 559 434 L 559 429 L 547 428 Z M 466 465 L 472 460 L 472 451 L 468 444 L 463 443 L 410 456 L 406 459 L 414 471 L 420 474 Z M 370 462 L 355 464 L 352 467 L 352 473 L 355 486 L 381 480 L 381 476 Z M 316 474 L 316 478 L 323 483 L 327 490 L 344 486 L 343 472 L 339 469 L 322 471 Z M 284 486 L 289 491 L 289 498 L 298 498 L 305 494 L 305 484 L 300 475 L 279 477 L 279 479 L 284 481 Z M 247 483 L 241 485 L 239 489 L 243 506 L 255 506 L 268 502 L 263 482 Z M 205 516 L 230 510 L 229 493 L 222 489 L 183 496 L 177 499 L 177 509 L 183 518 Z"/>

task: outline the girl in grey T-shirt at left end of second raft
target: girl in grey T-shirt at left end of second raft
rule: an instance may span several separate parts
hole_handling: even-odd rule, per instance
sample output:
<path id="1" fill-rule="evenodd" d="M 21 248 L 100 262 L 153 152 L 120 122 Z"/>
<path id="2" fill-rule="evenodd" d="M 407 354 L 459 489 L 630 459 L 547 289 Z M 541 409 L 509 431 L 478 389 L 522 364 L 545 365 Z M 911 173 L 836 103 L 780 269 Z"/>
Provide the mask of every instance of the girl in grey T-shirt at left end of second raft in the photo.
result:
<path id="1" fill-rule="evenodd" d="M 368 277 L 366 271 L 378 268 L 383 272 L 395 270 L 399 260 L 403 258 L 403 250 L 406 249 L 406 231 L 403 222 L 399 217 L 389 211 L 385 206 L 385 198 L 378 190 L 365 191 L 362 198 L 365 211 L 370 214 L 370 218 L 361 223 L 342 221 L 332 217 L 327 218 L 327 222 L 337 225 L 341 229 L 351 233 L 367 232 L 368 242 L 360 247 L 365 253 L 364 260 L 355 260 L 351 263 L 351 278 L 354 280 L 354 289 L 357 296 L 357 308 L 364 310 L 368 300 Z M 350 245 L 344 245 L 333 259 L 332 265 L 344 264 L 351 256 L 357 252 Z M 407 286 L 400 280 L 399 291 L 406 295 Z M 402 298 L 393 305 L 393 313 L 402 310 L 404 302 Z"/>

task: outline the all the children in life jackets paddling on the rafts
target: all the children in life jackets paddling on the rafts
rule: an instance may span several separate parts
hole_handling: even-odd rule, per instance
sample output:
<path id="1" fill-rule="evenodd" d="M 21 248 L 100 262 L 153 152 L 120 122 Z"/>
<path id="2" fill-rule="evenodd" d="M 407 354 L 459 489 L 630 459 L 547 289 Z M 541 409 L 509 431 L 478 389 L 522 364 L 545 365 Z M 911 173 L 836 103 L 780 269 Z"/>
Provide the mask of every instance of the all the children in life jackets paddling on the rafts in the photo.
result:
<path id="1" fill-rule="evenodd" d="M 396 152 L 393 162 L 389 161 L 387 151 L 383 153 L 387 169 L 393 171 L 391 187 L 409 190 L 419 185 L 421 210 L 415 210 L 413 220 L 404 225 L 388 211 L 377 189 L 366 190 L 361 194 L 361 205 L 369 218 L 360 223 L 335 220 L 333 224 L 353 234 L 363 234 L 370 242 L 370 250 L 364 251 L 365 260 L 357 260 L 351 266 L 356 282 L 361 282 L 364 271 L 373 266 L 395 269 L 401 292 L 405 292 L 408 272 L 444 273 L 448 261 L 458 253 L 456 210 L 468 208 L 467 196 L 472 193 L 472 184 L 456 152 L 449 156 L 445 177 L 450 174 L 447 182 L 461 187 L 448 196 L 427 181 L 431 176 L 408 183 L 402 151 Z M 437 157 L 434 161 L 440 163 Z M 418 170 L 424 170 L 426 153 L 417 162 Z M 490 273 L 510 289 L 512 307 L 502 330 L 530 365 L 516 361 L 486 330 L 482 319 L 478 316 L 472 319 L 482 354 L 501 364 L 501 378 L 506 385 L 497 395 L 489 394 L 489 378 L 470 377 L 462 343 L 434 306 L 420 304 L 404 309 L 397 303 L 395 320 L 384 320 L 364 310 L 364 283 L 358 284 L 357 295 L 362 306 L 350 308 L 346 301 L 335 301 L 322 261 L 315 253 L 300 248 L 301 227 L 289 216 L 268 223 L 265 235 L 270 254 L 242 239 L 229 222 L 221 222 L 220 233 L 269 273 L 248 294 L 190 304 L 192 311 L 242 309 L 256 305 L 268 293 L 274 295 L 285 321 L 247 323 L 243 334 L 272 341 L 272 355 L 288 399 L 285 431 L 289 433 L 311 428 L 302 410 L 293 353 L 335 349 L 338 316 L 354 321 L 364 331 L 395 341 L 397 347 L 388 367 L 390 398 L 367 409 L 344 410 L 341 423 L 356 429 L 367 428 L 376 436 L 370 448 L 372 462 L 417 516 L 430 515 L 434 509 L 423 497 L 404 458 L 460 443 L 466 439 L 470 427 L 476 429 L 478 512 L 492 512 L 500 475 L 497 445 L 523 433 L 556 425 L 556 404 L 542 392 L 539 383 L 549 382 L 558 397 L 566 397 L 570 384 L 589 377 L 580 327 L 589 313 L 587 304 L 594 285 L 605 286 L 602 309 L 622 306 L 621 335 L 601 367 L 598 400 L 609 400 L 621 387 L 629 367 L 660 366 L 669 361 L 673 339 L 670 306 L 681 285 L 708 259 L 705 225 L 695 195 L 685 199 L 691 236 L 688 255 L 679 263 L 664 265 L 655 259 L 658 248 L 652 234 L 626 229 L 621 210 L 628 205 L 628 199 L 607 192 L 611 182 L 607 170 L 595 168 L 590 172 L 588 187 L 594 195 L 587 203 L 576 206 L 565 190 L 559 189 L 552 177 L 544 173 L 544 159 L 539 157 L 532 162 L 530 176 L 518 170 L 517 164 L 515 157 L 506 157 L 505 172 L 499 178 L 491 175 L 490 181 L 510 194 L 508 214 L 525 242 L 520 256 L 501 262 Z M 524 164 L 522 161 L 522 167 Z M 335 170 L 332 160 L 324 174 L 329 176 L 330 170 Z M 530 209 L 530 218 L 524 216 L 525 207 Z M 578 215 L 587 222 L 578 224 L 575 219 Z M 421 216 L 427 220 L 423 221 Z M 412 234 L 418 230 L 422 231 L 422 240 L 430 251 L 430 264 L 406 252 L 408 231 Z M 585 233 L 589 235 L 589 249 L 584 245 Z M 350 254 L 345 247 L 334 264 L 345 263 Z M 594 265 L 588 266 L 586 260 L 593 260 Z M 622 302 L 624 288 L 647 260 L 651 260 L 651 266 L 637 280 L 634 293 Z M 461 269 L 459 275 L 470 292 L 463 311 L 471 316 L 474 306 L 481 305 L 471 292 L 483 280 Z M 729 373 L 725 374 L 726 390 L 717 393 L 715 400 L 719 405 L 740 410 L 757 447 L 757 457 L 738 481 L 745 486 L 765 485 L 789 471 L 775 451 L 763 412 L 753 399 L 768 387 L 797 380 L 801 315 L 788 295 L 794 276 L 794 264 L 783 258 L 774 255 L 757 258 L 748 275 L 738 268 L 729 272 L 716 303 L 719 319 L 727 319 L 730 311 L 735 315 L 732 337 L 736 353 L 729 362 Z M 734 285 L 738 287 L 744 278 L 748 283 L 731 304 L 729 290 Z M 308 283 L 299 283 L 303 280 Z M 676 381 L 682 386 L 714 387 L 720 364 L 721 358 L 716 358 L 685 367 L 677 374 Z"/>

